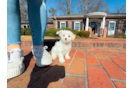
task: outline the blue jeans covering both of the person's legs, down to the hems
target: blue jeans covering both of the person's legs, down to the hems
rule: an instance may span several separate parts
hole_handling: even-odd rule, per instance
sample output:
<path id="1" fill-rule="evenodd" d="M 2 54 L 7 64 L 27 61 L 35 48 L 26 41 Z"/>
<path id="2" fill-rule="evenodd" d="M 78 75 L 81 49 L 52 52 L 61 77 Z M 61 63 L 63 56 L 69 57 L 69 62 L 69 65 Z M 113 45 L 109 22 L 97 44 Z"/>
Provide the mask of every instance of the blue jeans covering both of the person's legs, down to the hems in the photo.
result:
<path id="1" fill-rule="evenodd" d="M 46 0 L 27 1 L 33 45 L 44 45 L 47 25 Z M 21 43 L 20 24 L 19 0 L 7 0 L 7 45 Z"/>

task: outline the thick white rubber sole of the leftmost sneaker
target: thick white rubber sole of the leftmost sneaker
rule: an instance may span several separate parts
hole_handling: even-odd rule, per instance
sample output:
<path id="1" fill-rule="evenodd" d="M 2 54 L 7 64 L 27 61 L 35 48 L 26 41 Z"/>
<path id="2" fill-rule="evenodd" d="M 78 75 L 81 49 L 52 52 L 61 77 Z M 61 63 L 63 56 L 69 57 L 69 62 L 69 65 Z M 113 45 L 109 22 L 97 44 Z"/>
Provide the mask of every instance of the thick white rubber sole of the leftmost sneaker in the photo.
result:
<path id="1" fill-rule="evenodd" d="M 14 63 L 11 66 L 15 67 L 16 65 L 20 66 L 19 62 L 18 63 Z M 18 68 L 10 68 L 10 67 L 8 68 L 7 67 L 7 79 L 11 79 L 11 78 L 14 78 L 16 76 L 21 75 L 24 72 L 24 70 L 25 70 L 25 65 L 24 65 L 23 62 L 22 62 L 21 68 L 19 68 L 19 67 Z"/>

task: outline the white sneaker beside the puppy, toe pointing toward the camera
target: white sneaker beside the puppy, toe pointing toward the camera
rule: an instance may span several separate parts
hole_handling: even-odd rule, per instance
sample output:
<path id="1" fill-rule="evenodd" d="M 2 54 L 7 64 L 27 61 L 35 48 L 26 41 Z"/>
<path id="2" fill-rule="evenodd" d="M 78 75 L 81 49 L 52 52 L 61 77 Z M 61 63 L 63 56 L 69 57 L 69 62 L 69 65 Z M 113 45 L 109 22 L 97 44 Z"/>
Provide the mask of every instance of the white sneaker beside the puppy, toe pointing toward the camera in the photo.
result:
<path id="1" fill-rule="evenodd" d="M 36 65 L 38 67 L 48 66 L 52 63 L 52 57 L 50 53 L 46 50 L 48 47 L 37 46 L 34 47 L 32 53 L 36 59 Z"/>

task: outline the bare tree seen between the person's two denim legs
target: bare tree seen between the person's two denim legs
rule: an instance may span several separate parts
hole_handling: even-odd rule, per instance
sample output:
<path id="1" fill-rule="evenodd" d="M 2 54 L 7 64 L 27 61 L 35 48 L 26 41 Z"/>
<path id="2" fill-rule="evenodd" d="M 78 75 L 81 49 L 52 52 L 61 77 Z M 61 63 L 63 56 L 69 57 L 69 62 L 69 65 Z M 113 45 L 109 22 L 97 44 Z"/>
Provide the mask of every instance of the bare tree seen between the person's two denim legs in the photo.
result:
<path id="1" fill-rule="evenodd" d="M 21 20 L 28 20 L 27 0 L 20 0 Z"/>

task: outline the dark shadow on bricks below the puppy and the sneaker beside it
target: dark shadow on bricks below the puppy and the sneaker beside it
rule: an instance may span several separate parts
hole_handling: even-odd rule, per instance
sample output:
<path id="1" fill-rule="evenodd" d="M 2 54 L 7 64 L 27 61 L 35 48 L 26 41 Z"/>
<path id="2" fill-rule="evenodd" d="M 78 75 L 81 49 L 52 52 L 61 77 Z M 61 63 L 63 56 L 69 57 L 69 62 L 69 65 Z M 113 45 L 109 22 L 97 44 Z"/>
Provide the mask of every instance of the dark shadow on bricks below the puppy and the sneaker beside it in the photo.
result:
<path id="1" fill-rule="evenodd" d="M 49 69 L 46 70 L 46 68 L 48 67 Z M 47 88 L 51 82 L 56 82 L 60 78 L 64 78 L 64 77 L 65 77 L 64 66 L 55 65 L 51 67 L 50 66 L 38 67 L 38 69 L 35 66 L 30 75 L 28 88 Z"/>

